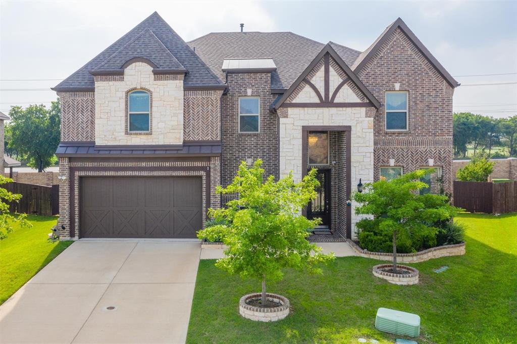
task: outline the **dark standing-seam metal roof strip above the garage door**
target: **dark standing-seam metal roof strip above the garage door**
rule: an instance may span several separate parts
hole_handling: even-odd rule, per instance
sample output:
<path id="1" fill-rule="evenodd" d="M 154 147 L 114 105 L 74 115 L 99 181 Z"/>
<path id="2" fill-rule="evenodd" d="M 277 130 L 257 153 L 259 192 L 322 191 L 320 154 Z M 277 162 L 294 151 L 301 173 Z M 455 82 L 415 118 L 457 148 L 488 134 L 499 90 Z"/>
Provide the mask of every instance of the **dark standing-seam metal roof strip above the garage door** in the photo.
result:
<path id="1" fill-rule="evenodd" d="M 175 155 L 175 154 L 207 154 L 207 155 L 217 155 L 221 153 L 221 144 L 214 145 L 184 145 L 182 147 L 178 147 L 177 149 L 159 149 L 159 148 L 131 148 L 130 146 L 127 149 L 123 148 L 99 148 L 95 147 L 94 144 L 85 146 L 83 144 L 66 144 L 60 143 L 56 150 L 56 155 L 59 157 L 66 156 L 78 156 L 78 155 L 87 155 L 93 157 L 99 157 L 101 155 L 155 155 L 155 154 L 163 154 L 163 155 Z"/>

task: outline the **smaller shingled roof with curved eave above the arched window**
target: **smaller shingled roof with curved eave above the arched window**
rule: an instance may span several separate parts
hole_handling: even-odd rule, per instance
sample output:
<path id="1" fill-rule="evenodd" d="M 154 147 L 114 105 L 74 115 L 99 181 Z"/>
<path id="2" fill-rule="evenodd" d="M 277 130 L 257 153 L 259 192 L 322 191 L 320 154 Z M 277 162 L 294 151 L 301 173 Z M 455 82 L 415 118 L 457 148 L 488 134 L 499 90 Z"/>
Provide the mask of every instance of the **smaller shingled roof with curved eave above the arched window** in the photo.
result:
<path id="1" fill-rule="evenodd" d="M 153 72 L 187 72 L 158 37 L 149 28 L 146 28 L 90 73 L 94 75 L 106 72 L 124 74 L 127 66 L 140 59 L 146 60 L 146 63 L 153 67 Z"/>

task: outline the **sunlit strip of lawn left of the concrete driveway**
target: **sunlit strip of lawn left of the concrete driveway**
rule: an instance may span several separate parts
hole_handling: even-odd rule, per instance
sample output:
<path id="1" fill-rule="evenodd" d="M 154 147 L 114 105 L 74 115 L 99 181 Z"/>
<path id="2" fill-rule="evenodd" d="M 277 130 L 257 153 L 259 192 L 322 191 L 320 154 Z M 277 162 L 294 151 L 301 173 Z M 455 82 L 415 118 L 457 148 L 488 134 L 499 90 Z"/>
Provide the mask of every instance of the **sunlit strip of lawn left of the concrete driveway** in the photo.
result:
<path id="1" fill-rule="evenodd" d="M 27 216 L 31 228 L 15 225 L 7 239 L 0 241 L 0 304 L 20 289 L 73 241 L 47 240 L 56 216 Z"/>

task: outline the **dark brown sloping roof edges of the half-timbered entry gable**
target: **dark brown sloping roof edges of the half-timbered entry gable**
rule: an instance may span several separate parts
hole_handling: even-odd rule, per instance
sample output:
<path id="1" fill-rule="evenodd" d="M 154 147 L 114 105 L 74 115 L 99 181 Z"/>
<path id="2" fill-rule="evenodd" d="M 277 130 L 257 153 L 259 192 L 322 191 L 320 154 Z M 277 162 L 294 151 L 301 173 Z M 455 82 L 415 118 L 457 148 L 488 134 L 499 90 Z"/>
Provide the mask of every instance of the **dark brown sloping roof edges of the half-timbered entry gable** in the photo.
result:
<path id="1" fill-rule="evenodd" d="M 285 91 L 285 93 L 282 96 L 279 96 L 277 99 L 275 99 L 275 101 L 273 101 L 273 103 L 270 106 L 271 110 L 277 110 L 285 102 L 285 100 L 287 100 L 287 98 L 291 95 L 291 93 L 293 93 L 293 91 L 296 89 L 296 87 L 298 87 L 298 85 L 301 82 L 303 82 L 303 80 L 306 78 L 306 76 L 311 72 L 311 70 L 317 65 L 317 63 L 327 53 L 330 54 L 330 56 L 332 56 L 334 61 L 336 61 L 336 63 L 339 65 L 339 67 L 341 67 L 344 70 L 344 72 L 346 73 L 348 78 L 350 80 L 352 80 L 352 82 L 357 86 L 357 88 L 359 88 L 359 90 L 363 93 L 363 95 L 366 96 L 366 98 L 373 104 L 373 106 L 375 106 L 376 108 L 381 107 L 381 103 L 379 103 L 379 101 L 375 98 L 375 96 L 372 95 L 370 90 L 368 90 L 368 88 L 366 86 L 364 86 L 364 84 L 359 80 L 359 77 L 357 77 L 357 75 L 355 75 L 355 73 L 350 69 L 350 67 L 348 67 L 346 65 L 345 61 L 343 61 L 343 59 L 341 58 L 341 56 L 339 56 L 339 54 L 336 52 L 336 50 L 334 50 L 332 48 L 330 43 L 331 42 L 327 43 L 327 45 L 324 46 L 324 48 L 320 51 L 320 53 L 318 53 L 316 55 L 316 57 L 314 57 L 312 62 L 309 64 L 309 66 L 307 66 L 307 68 L 298 76 L 298 78 L 291 85 L 291 87 L 287 91 Z"/>

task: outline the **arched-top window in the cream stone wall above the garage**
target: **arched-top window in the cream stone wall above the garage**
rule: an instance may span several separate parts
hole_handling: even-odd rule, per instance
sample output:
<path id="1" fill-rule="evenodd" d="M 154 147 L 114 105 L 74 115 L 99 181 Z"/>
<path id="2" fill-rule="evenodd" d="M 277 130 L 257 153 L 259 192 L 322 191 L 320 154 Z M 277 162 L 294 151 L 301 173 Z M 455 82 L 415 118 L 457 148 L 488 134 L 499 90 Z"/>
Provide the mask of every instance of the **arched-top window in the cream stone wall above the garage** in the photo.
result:
<path id="1" fill-rule="evenodd" d="M 128 95 L 128 132 L 147 133 L 150 127 L 150 95 L 143 90 L 135 90 Z"/>

